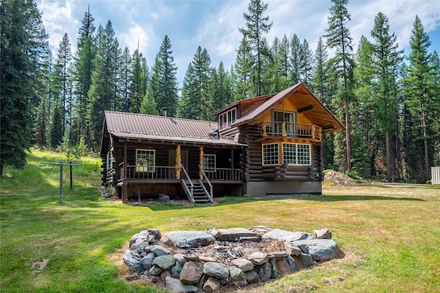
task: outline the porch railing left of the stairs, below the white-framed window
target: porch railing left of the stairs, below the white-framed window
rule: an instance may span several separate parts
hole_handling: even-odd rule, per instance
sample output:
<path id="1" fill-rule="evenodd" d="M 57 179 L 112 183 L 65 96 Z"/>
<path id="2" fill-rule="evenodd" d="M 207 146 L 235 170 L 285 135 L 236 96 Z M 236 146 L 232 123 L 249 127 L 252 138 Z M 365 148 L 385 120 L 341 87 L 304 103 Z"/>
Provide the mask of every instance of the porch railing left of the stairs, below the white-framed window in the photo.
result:
<path id="1" fill-rule="evenodd" d="M 121 168 L 121 179 L 166 180 L 176 178 L 175 167 L 126 165 L 126 176 Z"/>

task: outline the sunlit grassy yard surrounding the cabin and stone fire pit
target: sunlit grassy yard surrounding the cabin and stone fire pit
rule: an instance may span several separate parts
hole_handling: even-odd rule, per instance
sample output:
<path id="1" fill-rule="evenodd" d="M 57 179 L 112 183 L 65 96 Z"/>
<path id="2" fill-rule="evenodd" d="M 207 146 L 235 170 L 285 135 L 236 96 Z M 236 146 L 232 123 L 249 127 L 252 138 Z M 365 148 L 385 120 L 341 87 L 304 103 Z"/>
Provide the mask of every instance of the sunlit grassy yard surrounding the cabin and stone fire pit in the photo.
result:
<path id="1" fill-rule="evenodd" d="M 21 170 L 0 182 L 1 292 L 166 292 L 118 278 L 114 253 L 146 228 L 162 232 L 210 227 L 272 228 L 311 233 L 330 228 L 343 259 L 246 292 L 438 292 L 440 187 L 325 186 L 324 196 L 217 198 L 213 205 L 135 207 L 100 196 L 100 160 L 65 169 L 61 154 L 32 150 Z"/>

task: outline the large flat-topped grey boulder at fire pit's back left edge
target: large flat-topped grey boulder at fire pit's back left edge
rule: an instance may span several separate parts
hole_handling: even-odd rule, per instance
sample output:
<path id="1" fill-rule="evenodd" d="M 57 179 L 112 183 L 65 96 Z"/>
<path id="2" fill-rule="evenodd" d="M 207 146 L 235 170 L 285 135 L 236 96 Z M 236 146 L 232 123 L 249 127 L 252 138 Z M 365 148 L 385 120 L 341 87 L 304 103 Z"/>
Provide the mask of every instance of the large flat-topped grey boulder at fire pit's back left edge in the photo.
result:
<path id="1" fill-rule="evenodd" d="M 165 234 L 179 248 L 195 248 L 208 246 L 215 241 L 210 233 L 202 231 L 174 231 Z"/>

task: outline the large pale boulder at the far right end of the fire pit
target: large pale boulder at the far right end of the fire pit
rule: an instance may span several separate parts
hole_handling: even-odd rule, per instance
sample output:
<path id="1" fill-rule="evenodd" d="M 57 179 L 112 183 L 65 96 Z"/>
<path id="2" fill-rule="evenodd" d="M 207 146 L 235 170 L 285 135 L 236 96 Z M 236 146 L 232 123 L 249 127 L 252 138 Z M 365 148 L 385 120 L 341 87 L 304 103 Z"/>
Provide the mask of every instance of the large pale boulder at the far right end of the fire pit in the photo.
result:
<path id="1" fill-rule="evenodd" d="M 293 243 L 301 249 L 307 246 L 308 254 L 311 255 L 314 261 L 334 259 L 338 255 L 338 245 L 330 239 L 298 240 Z"/>

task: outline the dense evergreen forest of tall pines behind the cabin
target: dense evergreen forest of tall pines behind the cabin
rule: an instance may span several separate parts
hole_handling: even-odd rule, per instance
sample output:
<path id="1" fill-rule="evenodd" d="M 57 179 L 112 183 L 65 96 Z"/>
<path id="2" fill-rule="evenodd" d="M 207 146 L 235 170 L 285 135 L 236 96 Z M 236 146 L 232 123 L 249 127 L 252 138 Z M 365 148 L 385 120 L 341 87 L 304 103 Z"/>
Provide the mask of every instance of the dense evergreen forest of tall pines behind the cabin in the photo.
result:
<path id="1" fill-rule="evenodd" d="M 419 17 L 410 51 L 399 49 L 386 15 L 353 40 L 348 0 L 332 0 L 316 48 L 306 39 L 266 36 L 268 3 L 250 0 L 230 68 L 211 64 L 195 44 L 177 80 L 172 40 L 155 56 L 121 48 L 112 23 L 84 13 L 77 36 L 64 34 L 56 55 L 35 0 L 3 0 L 1 10 L 1 175 L 26 152 L 83 144 L 99 152 L 104 110 L 214 121 L 231 102 L 303 82 L 346 126 L 324 138 L 325 168 L 362 178 L 425 183 L 440 165 L 440 59 Z M 76 42 L 76 51 L 72 51 Z M 358 44 L 355 47 L 353 44 Z M 147 58 L 151 64 L 147 63 Z"/>

